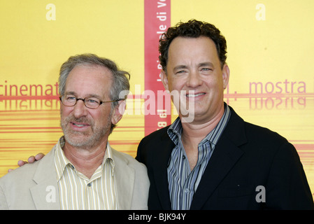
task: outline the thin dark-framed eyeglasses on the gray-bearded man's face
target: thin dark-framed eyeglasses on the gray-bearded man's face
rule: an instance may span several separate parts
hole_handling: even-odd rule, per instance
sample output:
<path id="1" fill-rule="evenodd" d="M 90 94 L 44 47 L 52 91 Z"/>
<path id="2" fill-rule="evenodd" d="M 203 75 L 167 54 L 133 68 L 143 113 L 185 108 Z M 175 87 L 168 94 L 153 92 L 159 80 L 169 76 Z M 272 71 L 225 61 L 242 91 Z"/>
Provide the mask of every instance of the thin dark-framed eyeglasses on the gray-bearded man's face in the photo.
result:
<path id="1" fill-rule="evenodd" d="M 101 101 L 100 99 L 97 99 L 96 97 L 85 97 L 85 99 L 82 98 L 76 98 L 76 96 L 65 94 L 59 97 L 60 101 L 64 106 L 75 106 L 78 100 L 82 100 L 85 104 L 85 106 L 89 109 L 97 109 L 100 104 L 104 103 L 110 103 L 110 102 L 118 102 L 120 100 L 124 99 L 115 99 L 111 101 Z"/>

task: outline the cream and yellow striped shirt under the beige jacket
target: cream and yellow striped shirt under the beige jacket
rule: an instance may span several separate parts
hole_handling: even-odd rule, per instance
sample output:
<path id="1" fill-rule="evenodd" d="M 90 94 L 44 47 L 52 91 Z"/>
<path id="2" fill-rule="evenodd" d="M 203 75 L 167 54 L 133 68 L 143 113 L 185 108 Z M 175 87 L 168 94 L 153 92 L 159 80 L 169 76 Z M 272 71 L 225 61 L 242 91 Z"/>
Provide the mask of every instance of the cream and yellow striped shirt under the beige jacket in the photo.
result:
<path id="1" fill-rule="evenodd" d="M 60 138 L 55 150 L 55 167 L 62 210 L 118 209 L 113 172 L 111 148 L 107 144 L 104 160 L 88 179 L 78 172 L 65 157 L 62 150 L 64 137 Z"/>

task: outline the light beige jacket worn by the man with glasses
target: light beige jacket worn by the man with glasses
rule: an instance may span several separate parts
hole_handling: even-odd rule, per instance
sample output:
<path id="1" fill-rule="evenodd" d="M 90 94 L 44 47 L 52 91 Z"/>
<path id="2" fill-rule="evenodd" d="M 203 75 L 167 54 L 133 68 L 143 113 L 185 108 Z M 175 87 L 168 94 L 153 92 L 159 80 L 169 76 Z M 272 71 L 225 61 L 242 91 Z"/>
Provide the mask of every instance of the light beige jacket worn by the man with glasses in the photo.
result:
<path id="1" fill-rule="evenodd" d="M 112 148 L 119 209 L 148 209 L 145 165 Z M 0 209 L 60 209 L 55 147 L 38 162 L 15 169 L 0 179 Z"/>

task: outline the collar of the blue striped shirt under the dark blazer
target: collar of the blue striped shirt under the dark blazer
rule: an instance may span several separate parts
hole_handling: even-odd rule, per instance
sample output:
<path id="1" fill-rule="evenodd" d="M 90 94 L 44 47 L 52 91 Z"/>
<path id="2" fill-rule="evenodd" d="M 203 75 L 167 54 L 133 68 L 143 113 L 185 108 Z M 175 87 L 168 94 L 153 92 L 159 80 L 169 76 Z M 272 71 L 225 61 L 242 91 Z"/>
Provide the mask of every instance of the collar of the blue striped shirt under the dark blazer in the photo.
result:
<path id="1" fill-rule="evenodd" d="M 229 109 L 229 106 L 224 103 L 224 114 L 222 115 L 222 118 L 220 119 L 217 126 L 206 135 L 206 137 L 200 142 L 200 144 L 204 144 L 206 141 L 210 141 L 211 144 L 216 145 L 222 132 L 224 131 L 224 127 L 227 126 L 230 115 L 231 111 Z M 173 141 L 174 144 L 176 144 L 176 146 L 178 146 L 179 140 L 181 139 L 182 129 L 183 127 L 181 120 L 180 118 L 177 118 L 167 130 L 170 139 Z"/>

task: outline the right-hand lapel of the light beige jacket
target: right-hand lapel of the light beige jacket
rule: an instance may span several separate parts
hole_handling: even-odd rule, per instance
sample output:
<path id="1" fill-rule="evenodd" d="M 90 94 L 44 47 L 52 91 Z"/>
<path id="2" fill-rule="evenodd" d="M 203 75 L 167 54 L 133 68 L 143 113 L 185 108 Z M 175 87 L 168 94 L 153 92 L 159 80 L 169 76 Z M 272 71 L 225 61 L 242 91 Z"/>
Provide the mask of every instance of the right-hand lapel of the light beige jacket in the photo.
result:
<path id="1" fill-rule="evenodd" d="M 134 190 L 135 171 L 128 166 L 128 160 L 111 148 L 115 160 L 115 188 L 117 190 L 118 209 L 131 209 L 131 201 Z M 126 188 L 127 186 L 127 188 Z"/>

